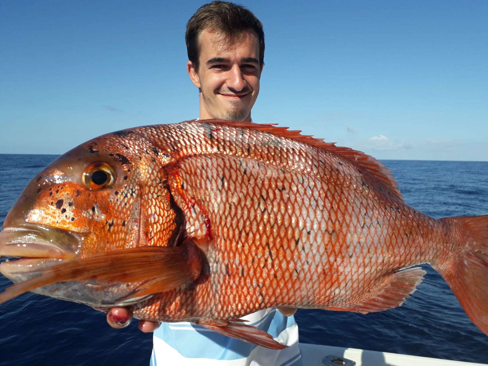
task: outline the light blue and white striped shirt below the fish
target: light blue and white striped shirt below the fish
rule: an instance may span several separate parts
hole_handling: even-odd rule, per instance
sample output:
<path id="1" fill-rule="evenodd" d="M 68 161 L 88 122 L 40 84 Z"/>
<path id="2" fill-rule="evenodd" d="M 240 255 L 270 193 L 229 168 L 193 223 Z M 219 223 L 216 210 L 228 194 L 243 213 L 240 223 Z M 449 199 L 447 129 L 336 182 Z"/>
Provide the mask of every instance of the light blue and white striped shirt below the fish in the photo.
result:
<path id="1" fill-rule="evenodd" d="M 252 345 L 192 323 L 163 323 L 154 332 L 151 366 L 302 366 L 298 325 L 276 308 L 245 316 L 288 348 L 276 350 Z"/>

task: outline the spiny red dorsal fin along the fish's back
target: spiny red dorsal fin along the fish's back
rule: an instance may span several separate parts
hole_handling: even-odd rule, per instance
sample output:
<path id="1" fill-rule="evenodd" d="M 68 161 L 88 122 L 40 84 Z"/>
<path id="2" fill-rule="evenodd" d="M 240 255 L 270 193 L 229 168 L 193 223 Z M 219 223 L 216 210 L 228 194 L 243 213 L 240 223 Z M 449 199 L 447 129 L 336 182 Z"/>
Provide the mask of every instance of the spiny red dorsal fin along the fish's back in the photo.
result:
<path id="1" fill-rule="evenodd" d="M 190 121 L 186 121 L 190 122 Z M 350 163 L 366 169 L 375 178 L 385 184 L 386 188 L 391 194 L 398 200 L 405 202 L 402 193 L 398 189 L 398 184 L 393 178 L 391 171 L 385 167 L 383 163 L 376 160 L 370 155 L 365 154 L 362 151 L 353 150 L 350 147 L 336 146 L 335 142 L 325 142 L 321 139 L 316 139 L 310 135 L 301 135 L 302 131 L 290 131 L 288 127 L 277 127 L 276 123 L 259 124 L 253 122 L 232 122 L 224 120 L 198 120 L 197 122 L 224 124 L 233 127 L 252 128 L 258 131 L 272 133 L 273 135 L 283 136 L 289 139 L 293 139 L 299 142 L 305 142 L 309 145 L 319 147 L 328 152 L 331 152 L 337 156 L 340 156 Z"/>

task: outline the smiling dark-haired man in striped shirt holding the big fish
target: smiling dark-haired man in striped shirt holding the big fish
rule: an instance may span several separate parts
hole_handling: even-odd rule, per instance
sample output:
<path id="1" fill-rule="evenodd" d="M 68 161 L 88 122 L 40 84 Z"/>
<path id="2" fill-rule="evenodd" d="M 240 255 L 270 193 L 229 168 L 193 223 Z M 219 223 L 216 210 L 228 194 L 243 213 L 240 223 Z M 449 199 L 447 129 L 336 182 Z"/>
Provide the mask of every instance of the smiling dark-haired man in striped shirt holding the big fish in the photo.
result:
<path id="1" fill-rule="evenodd" d="M 247 8 L 231 2 L 205 4 L 186 24 L 187 71 L 199 88 L 199 119 L 251 122 L 264 66 L 262 23 Z M 141 321 L 154 331 L 151 365 L 301 365 L 298 327 L 293 311 L 265 309 L 244 317 L 290 346 L 270 350 L 226 337 L 190 323 Z M 107 314 L 114 327 L 126 326 L 130 314 L 114 308 Z M 198 359 L 198 360 L 197 360 Z"/>

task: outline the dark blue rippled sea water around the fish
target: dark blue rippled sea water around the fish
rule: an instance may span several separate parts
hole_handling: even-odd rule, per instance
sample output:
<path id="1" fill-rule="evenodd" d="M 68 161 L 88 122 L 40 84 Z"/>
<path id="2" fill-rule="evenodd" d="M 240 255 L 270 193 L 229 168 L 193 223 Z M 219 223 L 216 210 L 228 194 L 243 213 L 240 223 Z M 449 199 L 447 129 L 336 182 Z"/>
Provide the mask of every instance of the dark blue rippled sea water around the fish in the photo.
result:
<path id="1" fill-rule="evenodd" d="M 52 155 L 0 155 L 0 224 Z M 385 161 L 405 200 L 439 218 L 488 214 L 488 162 Z M 298 310 L 300 340 L 451 360 L 488 362 L 479 331 L 444 280 L 427 276 L 407 302 L 367 315 Z M 0 291 L 10 282 L 0 275 Z M 109 327 L 87 306 L 24 294 L 0 305 L 0 365 L 148 365 L 150 334 Z"/>

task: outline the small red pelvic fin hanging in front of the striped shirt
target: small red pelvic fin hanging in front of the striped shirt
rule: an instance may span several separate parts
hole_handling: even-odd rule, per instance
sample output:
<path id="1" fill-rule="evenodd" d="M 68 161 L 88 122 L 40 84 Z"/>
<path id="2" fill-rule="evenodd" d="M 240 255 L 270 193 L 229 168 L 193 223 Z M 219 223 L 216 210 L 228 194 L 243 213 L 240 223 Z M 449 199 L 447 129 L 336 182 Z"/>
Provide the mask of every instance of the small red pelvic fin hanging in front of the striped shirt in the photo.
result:
<path id="1" fill-rule="evenodd" d="M 258 329 L 252 325 L 246 325 L 238 322 L 222 322 L 217 324 L 202 324 L 205 328 L 212 329 L 217 333 L 224 334 L 228 337 L 239 339 L 253 345 L 263 346 L 271 349 L 283 349 L 287 346 L 275 341 L 270 334 L 264 330 Z"/>

